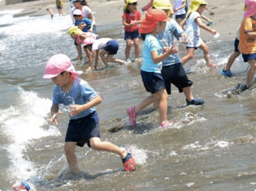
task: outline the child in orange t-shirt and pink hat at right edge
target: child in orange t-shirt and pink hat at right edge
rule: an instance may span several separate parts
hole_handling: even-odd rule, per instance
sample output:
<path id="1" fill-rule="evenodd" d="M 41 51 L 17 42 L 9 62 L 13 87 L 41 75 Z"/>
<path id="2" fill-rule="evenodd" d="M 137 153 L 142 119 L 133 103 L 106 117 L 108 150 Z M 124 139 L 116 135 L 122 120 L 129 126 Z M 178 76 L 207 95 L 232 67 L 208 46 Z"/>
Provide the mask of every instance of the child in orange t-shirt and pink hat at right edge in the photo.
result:
<path id="1" fill-rule="evenodd" d="M 242 53 L 244 62 L 249 62 L 246 84 L 241 91 L 249 89 L 254 82 L 256 70 L 256 0 L 245 0 L 245 19 L 241 23 L 240 42 L 238 49 Z"/>

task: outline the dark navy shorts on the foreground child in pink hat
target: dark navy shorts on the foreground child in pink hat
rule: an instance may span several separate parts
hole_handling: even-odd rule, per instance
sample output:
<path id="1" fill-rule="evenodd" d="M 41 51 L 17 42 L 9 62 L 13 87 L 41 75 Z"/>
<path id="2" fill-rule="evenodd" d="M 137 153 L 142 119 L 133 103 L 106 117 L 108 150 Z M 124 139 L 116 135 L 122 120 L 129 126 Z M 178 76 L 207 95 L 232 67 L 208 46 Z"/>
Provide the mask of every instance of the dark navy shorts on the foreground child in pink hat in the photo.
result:
<path id="1" fill-rule="evenodd" d="M 76 142 L 81 147 L 87 143 L 90 147 L 89 139 L 95 137 L 100 138 L 97 112 L 69 121 L 65 142 Z"/>

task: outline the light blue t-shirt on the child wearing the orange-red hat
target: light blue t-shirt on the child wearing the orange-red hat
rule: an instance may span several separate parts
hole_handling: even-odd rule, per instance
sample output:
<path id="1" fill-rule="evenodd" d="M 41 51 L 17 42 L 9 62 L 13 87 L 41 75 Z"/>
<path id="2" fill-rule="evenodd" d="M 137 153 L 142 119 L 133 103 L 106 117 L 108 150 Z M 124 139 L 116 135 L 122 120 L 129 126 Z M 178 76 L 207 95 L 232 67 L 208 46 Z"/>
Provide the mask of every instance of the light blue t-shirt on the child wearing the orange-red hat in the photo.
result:
<path id="1" fill-rule="evenodd" d="M 154 63 L 151 57 L 151 52 L 158 51 L 158 55 L 163 54 L 163 45 L 158 38 L 153 35 L 147 34 L 143 46 L 143 62 L 141 70 L 146 72 L 155 72 L 161 74 L 162 62 Z"/>

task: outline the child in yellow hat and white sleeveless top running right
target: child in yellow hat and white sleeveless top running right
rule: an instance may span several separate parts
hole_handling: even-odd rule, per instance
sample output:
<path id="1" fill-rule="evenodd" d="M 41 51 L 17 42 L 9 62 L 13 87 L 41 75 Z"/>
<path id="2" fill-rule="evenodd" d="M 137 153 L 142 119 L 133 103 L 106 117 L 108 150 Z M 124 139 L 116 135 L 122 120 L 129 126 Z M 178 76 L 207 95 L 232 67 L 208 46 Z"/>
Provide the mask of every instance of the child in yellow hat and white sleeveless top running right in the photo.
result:
<path id="1" fill-rule="evenodd" d="M 206 26 L 202 23 L 202 12 L 207 9 L 207 2 L 205 0 L 193 0 L 188 12 L 188 18 L 186 20 L 185 32 L 189 36 L 189 44 L 186 45 L 187 55 L 181 58 L 181 63 L 184 65 L 190 59 L 193 58 L 195 49 L 202 49 L 206 60 L 206 66 L 215 66 L 210 62 L 210 55 L 208 46 L 202 41 L 200 37 L 200 28 L 212 33 L 217 34 L 217 31 Z"/>

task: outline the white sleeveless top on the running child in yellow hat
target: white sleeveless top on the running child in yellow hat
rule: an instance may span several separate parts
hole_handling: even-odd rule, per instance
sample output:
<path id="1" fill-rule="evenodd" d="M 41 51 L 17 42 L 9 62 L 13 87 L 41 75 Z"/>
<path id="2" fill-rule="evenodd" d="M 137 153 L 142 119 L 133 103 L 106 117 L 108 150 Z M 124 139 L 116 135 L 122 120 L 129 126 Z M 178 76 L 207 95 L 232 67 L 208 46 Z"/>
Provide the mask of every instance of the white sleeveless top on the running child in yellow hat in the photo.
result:
<path id="1" fill-rule="evenodd" d="M 197 11 L 193 11 L 186 21 L 185 32 L 189 36 L 189 44 L 186 47 L 198 47 L 202 44 L 202 39 L 200 38 L 200 27 L 196 22 L 197 18 L 201 15 Z"/>

